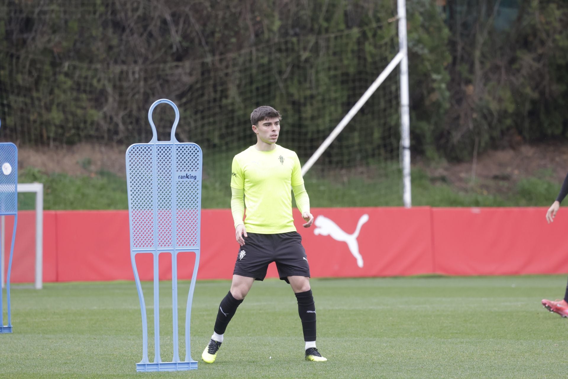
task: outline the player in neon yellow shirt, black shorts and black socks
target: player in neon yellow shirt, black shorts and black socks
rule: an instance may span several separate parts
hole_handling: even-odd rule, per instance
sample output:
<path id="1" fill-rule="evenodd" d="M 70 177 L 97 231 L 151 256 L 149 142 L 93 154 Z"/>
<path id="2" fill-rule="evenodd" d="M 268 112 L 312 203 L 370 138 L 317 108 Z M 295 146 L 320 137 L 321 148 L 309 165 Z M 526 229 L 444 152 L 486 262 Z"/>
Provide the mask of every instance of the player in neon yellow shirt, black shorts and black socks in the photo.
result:
<path id="1" fill-rule="evenodd" d="M 292 196 L 306 220 L 314 222 L 310 198 L 304 188 L 300 161 L 296 153 L 276 144 L 280 132 L 280 113 L 261 106 L 250 114 L 256 144 L 233 158 L 231 172 L 231 211 L 235 238 L 239 243 L 231 290 L 219 305 L 211 341 L 201 355 L 213 363 L 229 321 L 243 302 L 255 280 L 264 280 L 266 269 L 276 263 L 278 275 L 294 291 L 302 320 L 305 358 L 327 361 L 316 349 L 316 309 L 310 288 L 310 266 L 302 237 L 294 227 Z M 244 201 L 243 201 L 244 196 Z M 247 217 L 243 222 L 244 206 Z"/>

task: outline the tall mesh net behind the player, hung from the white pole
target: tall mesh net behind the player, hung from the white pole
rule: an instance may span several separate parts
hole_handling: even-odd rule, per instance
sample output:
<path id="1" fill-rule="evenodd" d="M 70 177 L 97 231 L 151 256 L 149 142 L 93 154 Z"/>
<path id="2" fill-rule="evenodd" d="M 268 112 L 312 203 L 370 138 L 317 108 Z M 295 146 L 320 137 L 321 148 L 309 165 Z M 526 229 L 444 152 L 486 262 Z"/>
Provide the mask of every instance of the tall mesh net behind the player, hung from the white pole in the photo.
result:
<path id="1" fill-rule="evenodd" d="M 127 12 L 115 2 L 73 3 L 76 9 L 27 2 L 0 6 L 9 34 L 0 35 L 3 138 L 44 145 L 149 141 L 149 105 L 171 99 L 181 113 L 178 140 L 203 148 L 203 207 L 228 207 L 232 156 L 256 141 L 249 121 L 255 107 L 281 112 L 278 143 L 305 163 L 399 51 L 398 22 L 385 19 L 199 59 L 107 60 L 88 55 L 69 34 L 84 33 L 81 25 L 124 23 Z M 153 11 L 153 5 L 140 7 L 140 13 Z M 176 27 L 181 21 L 168 22 Z M 63 35 L 78 47 L 51 38 L 56 25 L 65 25 Z M 116 34 L 119 44 L 125 38 L 120 28 L 106 33 Z M 16 47 L 7 42 L 14 36 L 29 40 Z M 86 43 L 95 49 L 101 41 L 91 35 Z M 152 44 L 172 49 L 167 38 Z M 171 110 L 156 109 L 154 122 L 158 139 L 168 139 Z M 396 68 L 304 177 L 312 206 L 402 205 L 399 147 Z"/>

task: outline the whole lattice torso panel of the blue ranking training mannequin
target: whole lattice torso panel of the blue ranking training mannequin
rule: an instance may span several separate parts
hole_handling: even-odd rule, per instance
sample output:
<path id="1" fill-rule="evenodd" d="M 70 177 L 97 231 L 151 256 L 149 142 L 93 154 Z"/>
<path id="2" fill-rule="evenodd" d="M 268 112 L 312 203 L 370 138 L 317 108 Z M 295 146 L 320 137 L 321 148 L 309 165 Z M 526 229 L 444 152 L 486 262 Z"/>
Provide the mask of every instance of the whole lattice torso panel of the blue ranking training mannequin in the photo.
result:
<path id="1" fill-rule="evenodd" d="M 173 248 L 173 196 L 176 196 L 176 248 L 199 247 L 201 210 L 201 149 L 195 144 L 178 144 L 175 172 L 195 173 L 196 180 L 172 185 L 173 144 L 133 145 L 127 156 L 128 197 L 132 220 L 133 248 L 154 248 L 152 149 L 156 149 L 157 247 Z"/>

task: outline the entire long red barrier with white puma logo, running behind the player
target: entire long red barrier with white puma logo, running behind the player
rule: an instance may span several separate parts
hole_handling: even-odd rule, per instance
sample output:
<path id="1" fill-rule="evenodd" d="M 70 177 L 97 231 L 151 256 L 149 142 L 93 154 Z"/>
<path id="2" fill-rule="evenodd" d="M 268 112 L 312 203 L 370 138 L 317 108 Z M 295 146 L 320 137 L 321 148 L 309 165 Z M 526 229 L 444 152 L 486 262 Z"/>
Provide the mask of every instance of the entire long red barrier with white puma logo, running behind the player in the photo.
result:
<path id="1" fill-rule="evenodd" d="M 319 208 L 311 228 L 295 211 L 313 277 L 507 275 L 568 272 L 563 232 L 568 214 L 546 224 L 543 208 Z M 562 212 L 562 211 L 561 211 Z M 6 218 L 6 252 L 12 223 Z M 12 282 L 34 281 L 35 214 L 22 211 Z M 203 210 L 199 279 L 232 277 L 237 253 L 231 211 Z M 45 211 L 45 282 L 132 280 L 128 211 Z M 246 245 L 244 247 L 246 249 Z M 7 256 L 6 256 L 7 261 Z M 138 254 L 142 280 L 151 280 L 151 255 Z M 193 253 L 178 256 L 179 278 L 190 278 Z M 171 257 L 160 255 L 160 278 Z M 267 277 L 277 277 L 274 264 Z"/>

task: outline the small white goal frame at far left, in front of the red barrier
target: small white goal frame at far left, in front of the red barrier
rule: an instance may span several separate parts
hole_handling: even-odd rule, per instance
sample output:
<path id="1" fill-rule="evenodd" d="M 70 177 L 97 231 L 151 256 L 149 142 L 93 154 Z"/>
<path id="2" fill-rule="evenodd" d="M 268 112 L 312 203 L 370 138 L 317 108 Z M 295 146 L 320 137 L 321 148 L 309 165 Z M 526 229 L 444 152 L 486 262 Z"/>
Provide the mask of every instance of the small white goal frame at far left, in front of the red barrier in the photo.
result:
<path id="1" fill-rule="evenodd" d="M 35 193 L 35 278 L 34 288 L 43 288 L 43 183 L 18 183 L 18 193 Z M 4 261 L 5 261 L 5 216 L 0 219 L 0 283 L 5 286 Z M 18 232 L 16 231 L 16 235 Z"/>

